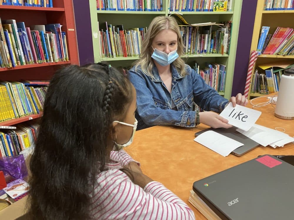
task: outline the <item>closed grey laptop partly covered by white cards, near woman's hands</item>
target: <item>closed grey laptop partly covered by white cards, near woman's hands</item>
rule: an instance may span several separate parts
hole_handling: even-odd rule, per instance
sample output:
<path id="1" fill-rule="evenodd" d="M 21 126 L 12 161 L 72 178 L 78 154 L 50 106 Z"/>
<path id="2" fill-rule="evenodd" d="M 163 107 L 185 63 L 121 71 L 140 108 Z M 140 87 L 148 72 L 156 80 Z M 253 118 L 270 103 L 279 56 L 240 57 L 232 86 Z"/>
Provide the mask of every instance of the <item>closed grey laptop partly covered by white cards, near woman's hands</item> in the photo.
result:
<path id="1" fill-rule="evenodd" d="M 252 139 L 246 137 L 245 135 L 239 133 L 236 131 L 236 127 L 232 128 L 207 128 L 203 131 L 199 131 L 195 133 L 195 137 L 202 134 L 206 131 L 215 131 L 217 133 L 220 133 L 228 138 L 232 138 L 235 141 L 239 141 L 240 143 L 243 143 L 244 145 L 241 147 L 236 148 L 232 151 L 231 154 L 234 154 L 236 156 L 242 156 L 243 154 L 249 152 L 250 150 L 253 150 L 254 148 L 257 148 L 260 144 L 253 141 Z"/>

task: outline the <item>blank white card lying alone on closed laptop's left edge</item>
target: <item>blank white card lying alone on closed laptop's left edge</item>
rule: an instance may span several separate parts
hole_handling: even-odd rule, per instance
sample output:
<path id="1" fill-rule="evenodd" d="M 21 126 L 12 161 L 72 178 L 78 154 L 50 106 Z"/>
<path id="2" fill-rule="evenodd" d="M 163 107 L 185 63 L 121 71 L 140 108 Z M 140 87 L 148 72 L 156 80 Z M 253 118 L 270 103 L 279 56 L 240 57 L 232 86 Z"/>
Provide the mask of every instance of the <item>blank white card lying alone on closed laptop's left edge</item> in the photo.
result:
<path id="1" fill-rule="evenodd" d="M 206 146 L 224 157 L 228 156 L 236 148 L 244 145 L 243 143 L 223 136 L 215 131 L 206 131 L 197 136 L 194 141 Z"/>

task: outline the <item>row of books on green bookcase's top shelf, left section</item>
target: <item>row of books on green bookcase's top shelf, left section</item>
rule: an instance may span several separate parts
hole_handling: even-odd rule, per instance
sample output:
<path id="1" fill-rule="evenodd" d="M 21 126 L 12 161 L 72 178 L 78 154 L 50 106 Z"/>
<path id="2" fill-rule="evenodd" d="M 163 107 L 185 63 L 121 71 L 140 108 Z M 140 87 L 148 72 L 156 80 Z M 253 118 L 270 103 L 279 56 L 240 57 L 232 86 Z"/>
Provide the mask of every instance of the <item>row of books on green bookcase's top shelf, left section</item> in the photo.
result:
<path id="1" fill-rule="evenodd" d="M 162 0 L 96 0 L 97 10 L 162 11 Z"/>

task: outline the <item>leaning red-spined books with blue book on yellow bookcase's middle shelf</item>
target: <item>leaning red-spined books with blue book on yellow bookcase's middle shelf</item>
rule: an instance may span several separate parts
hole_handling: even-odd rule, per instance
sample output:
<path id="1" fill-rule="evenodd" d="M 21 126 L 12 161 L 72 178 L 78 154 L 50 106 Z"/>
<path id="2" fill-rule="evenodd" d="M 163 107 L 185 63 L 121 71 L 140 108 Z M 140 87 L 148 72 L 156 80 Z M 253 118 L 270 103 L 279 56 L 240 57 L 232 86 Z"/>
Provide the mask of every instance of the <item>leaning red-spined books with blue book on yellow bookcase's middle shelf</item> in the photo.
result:
<path id="1" fill-rule="evenodd" d="M 273 34 L 269 34 L 269 29 L 268 26 L 261 28 L 257 46 L 259 55 L 294 55 L 293 28 L 277 27 Z"/>

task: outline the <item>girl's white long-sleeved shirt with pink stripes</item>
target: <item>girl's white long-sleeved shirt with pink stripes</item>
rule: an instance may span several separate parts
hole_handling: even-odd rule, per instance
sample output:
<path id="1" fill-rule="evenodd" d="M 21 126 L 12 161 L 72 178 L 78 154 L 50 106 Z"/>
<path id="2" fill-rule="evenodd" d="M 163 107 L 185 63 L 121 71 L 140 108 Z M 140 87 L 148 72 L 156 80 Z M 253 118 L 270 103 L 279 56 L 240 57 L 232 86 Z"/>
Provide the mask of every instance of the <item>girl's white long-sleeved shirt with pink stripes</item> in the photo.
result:
<path id="1" fill-rule="evenodd" d="M 106 166 L 110 170 L 97 176 L 91 192 L 93 219 L 195 219 L 193 211 L 161 183 L 150 182 L 144 189 L 134 184 L 119 170 L 131 161 L 135 160 L 124 150 L 111 152 Z"/>

